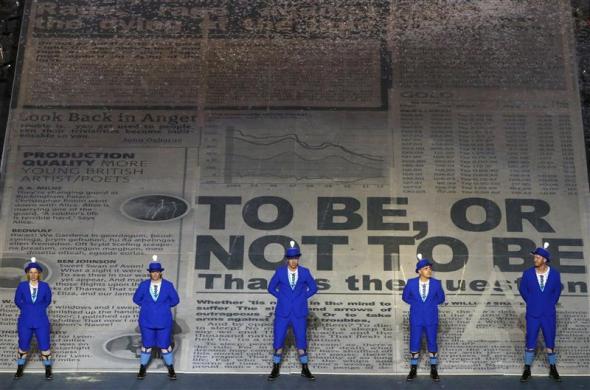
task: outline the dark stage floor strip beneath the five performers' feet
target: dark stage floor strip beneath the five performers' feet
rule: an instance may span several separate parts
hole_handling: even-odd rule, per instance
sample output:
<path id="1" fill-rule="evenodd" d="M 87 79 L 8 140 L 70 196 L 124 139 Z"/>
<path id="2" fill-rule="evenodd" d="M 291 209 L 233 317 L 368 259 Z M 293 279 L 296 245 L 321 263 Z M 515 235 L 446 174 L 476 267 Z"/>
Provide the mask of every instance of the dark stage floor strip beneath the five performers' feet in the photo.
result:
<path id="1" fill-rule="evenodd" d="M 427 376 L 406 382 L 405 376 L 385 375 L 318 375 L 315 381 L 308 381 L 299 375 L 281 375 L 274 382 L 268 382 L 266 375 L 252 374 L 178 374 L 176 381 L 168 379 L 164 373 L 149 373 L 139 381 L 133 373 L 55 373 L 52 381 L 46 381 L 41 373 L 25 373 L 19 380 L 13 374 L 0 373 L 1 389 L 44 390 L 112 390 L 112 389 L 198 389 L 198 390 L 370 390 L 370 389 L 590 389 L 590 377 L 563 377 L 561 383 L 553 382 L 547 376 L 534 376 L 528 383 L 520 383 L 518 376 L 442 376 L 441 381 L 433 383 Z"/>

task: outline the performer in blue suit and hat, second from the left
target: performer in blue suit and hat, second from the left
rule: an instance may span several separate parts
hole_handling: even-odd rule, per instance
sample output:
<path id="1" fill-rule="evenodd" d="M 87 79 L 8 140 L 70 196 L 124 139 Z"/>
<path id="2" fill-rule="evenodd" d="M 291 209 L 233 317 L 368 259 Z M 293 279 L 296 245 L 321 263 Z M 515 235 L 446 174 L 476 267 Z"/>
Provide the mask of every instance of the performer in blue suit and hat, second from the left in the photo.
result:
<path id="1" fill-rule="evenodd" d="M 133 302 L 140 306 L 139 328 L 141 330 L 141 357 L 137 379 L 145 378 L 147 365 L 152 356 L 152 348 L 160 348 L 162 359 L 168 367 L 168 377 L 176 379 L 174 356 L 172 354 L 172 311 L 180 298 L 174 285 L 162 278 L 162 265 L 158 256 L 148 267 L 150 279 L 139 284 Z"/>

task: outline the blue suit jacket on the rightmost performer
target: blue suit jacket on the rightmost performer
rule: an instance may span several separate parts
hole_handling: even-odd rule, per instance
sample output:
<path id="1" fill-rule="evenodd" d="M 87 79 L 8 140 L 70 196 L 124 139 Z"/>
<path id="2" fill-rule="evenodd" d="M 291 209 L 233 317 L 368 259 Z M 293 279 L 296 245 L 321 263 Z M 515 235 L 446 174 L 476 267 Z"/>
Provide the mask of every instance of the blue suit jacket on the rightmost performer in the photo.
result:
<path id="1" fill-rule="evenodd" d="M 561 276 L 551 267 L 545 289 L 541 291 L 535 267 L 531 267 L 522 273 L 520 279 L 520 296 L 526 303 L 526 314 L 533 317 L 555 316 L 555 305 L 561 295 Z"/>

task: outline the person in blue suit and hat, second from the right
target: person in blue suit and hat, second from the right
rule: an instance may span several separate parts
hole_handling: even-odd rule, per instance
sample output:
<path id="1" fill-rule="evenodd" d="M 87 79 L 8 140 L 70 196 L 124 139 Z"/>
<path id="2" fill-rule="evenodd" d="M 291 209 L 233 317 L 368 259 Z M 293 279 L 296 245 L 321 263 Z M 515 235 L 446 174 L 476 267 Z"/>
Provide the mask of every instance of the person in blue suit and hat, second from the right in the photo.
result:
<path id="1" fill-rule="evenodd" d="M 432 277 L 432 264 L 418 254 L 416 264 L 417 278 L 409 279 L 402 293 L 402 300 L 410 305 L 410 373 L 406 378 L 414 380 L 418 370 L 420 342 L 422 333 L 426 333 L 426 342 L 430 352 L 430 377 L 438 382 L 438 305 L 445 302 L 445 293 L 440 280 Z"/>

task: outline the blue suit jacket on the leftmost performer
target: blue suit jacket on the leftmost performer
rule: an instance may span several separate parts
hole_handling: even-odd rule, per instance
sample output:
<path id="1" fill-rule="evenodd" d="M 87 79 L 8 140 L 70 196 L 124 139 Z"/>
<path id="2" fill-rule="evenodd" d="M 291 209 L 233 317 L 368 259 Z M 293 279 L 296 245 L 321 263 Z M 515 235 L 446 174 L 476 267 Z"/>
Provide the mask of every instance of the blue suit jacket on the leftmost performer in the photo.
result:
<path id="1" fill-rule="evenodd" d="M 14 303 L 20 309 L 18 326 L 25 328 L 42 328 L 49 326 L 47 307 L 51 304 L 51 289 L 43 281 L 39 281 L 37 299 L 35 303 L 31 300 L 29 282 L 20 282 L 14 294 Z"/>

